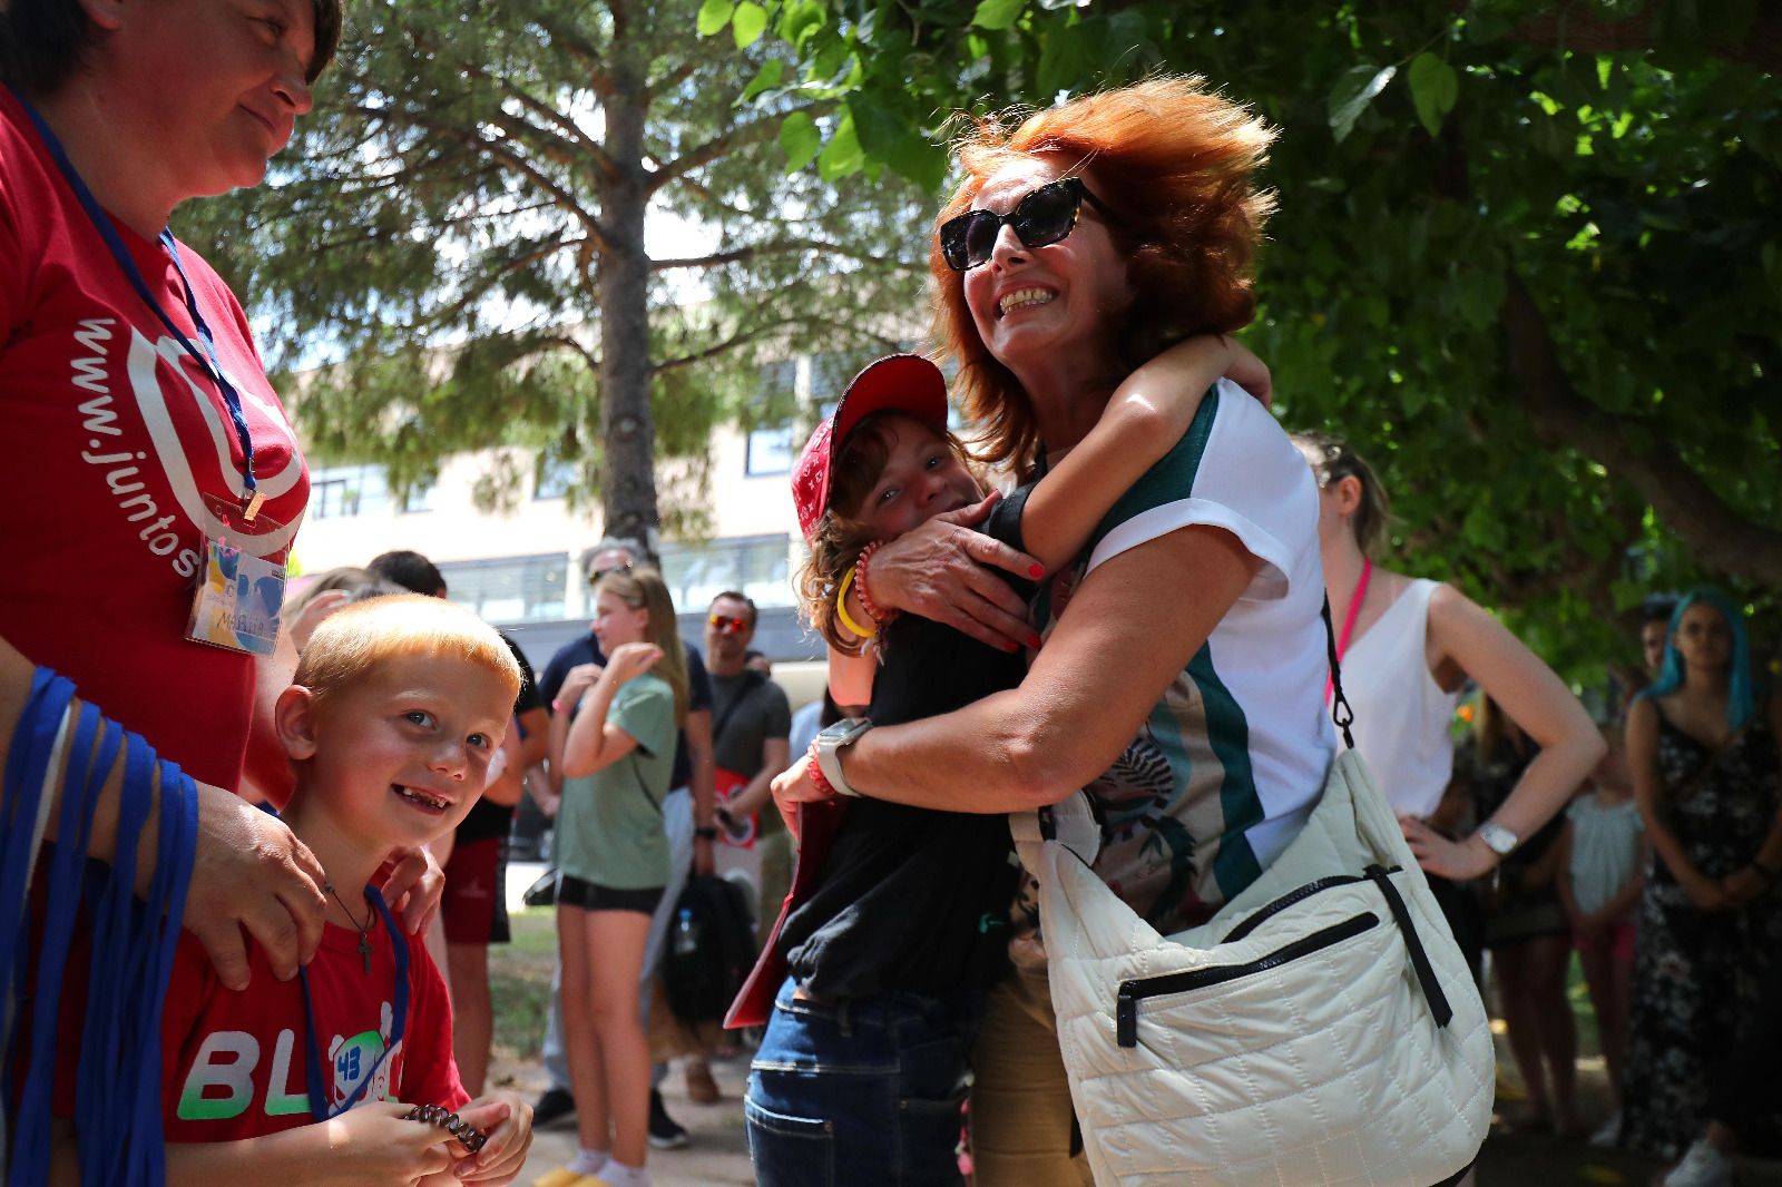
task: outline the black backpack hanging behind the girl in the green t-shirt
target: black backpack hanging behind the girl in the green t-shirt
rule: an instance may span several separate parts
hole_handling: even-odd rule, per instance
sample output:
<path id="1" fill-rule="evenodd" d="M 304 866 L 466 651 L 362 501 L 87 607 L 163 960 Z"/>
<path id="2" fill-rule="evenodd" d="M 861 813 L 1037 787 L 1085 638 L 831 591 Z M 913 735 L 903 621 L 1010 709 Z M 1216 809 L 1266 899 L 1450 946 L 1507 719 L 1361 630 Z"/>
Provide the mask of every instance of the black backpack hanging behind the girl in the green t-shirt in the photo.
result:
<path id="1" fill-rule="evenodd" d="M 756 930 L 743 888 L 729 879 L 688 879 L 668 920 L 663 989 L 686 1023 L 722 1021 L 756 962 Z"/>

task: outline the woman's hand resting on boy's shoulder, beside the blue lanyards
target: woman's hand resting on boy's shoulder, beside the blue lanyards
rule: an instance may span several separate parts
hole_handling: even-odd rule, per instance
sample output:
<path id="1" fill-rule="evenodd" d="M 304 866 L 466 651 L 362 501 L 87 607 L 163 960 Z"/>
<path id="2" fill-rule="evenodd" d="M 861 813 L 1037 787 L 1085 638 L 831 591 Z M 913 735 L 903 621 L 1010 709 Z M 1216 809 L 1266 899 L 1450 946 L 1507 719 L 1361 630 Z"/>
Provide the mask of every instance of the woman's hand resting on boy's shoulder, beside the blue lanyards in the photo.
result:
<path id="1" fill-rule="evenodd" d="M 266 950 L 273 975 L 290 980 L 323 937 L 323 880 L 315 855 L 276 816 L 233 791 L 198 784 L 198 852 L 185 927 L 230 989 L 248 987 L 242 929 Z"/>

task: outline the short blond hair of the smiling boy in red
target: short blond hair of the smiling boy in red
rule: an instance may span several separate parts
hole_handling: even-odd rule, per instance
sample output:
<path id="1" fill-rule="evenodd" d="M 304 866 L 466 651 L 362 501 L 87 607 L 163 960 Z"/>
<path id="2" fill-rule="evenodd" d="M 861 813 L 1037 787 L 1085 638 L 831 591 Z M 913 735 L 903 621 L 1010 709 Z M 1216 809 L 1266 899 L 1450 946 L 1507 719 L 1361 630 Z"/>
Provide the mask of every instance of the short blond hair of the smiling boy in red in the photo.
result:
<path id="1" fill-rule="evenodd" d="M 374 597 L 330 615 L 303 647 L 292 683 L 326 704 L 403 656 L 460 658 L 506 681 L 510 699 L 520 695 L 520 665 L 495 627 L 444 597 L 421 594 Z"/>

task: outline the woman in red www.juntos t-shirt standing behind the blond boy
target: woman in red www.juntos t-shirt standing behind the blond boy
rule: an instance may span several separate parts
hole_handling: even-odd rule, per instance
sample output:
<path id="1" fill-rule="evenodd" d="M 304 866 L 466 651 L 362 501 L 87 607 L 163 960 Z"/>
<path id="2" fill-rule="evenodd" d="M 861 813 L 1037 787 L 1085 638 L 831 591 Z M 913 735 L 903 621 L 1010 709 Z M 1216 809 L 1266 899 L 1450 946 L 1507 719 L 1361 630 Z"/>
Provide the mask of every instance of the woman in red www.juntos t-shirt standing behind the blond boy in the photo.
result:
<path id="1" fill-rule="evenodd" d="M 308 474 L 241 303 L 166 225 L 189 198 L 264 178 L 339 36 L 339 0 L 12 0 L 0 14 L 0 754 L 34 674 L 53 670 L 198 781 L 182 921 L 232 987 L 248 984 L 244 932 L 290 978 L 323 929 L 321 868 L 237 795 L 262 754 L 257 690 L 276 692 L 290 672 L 257 652 L 278 638 Z M 237 647 L 196 626 L 212 556 L 217 622 L 244 624 Z M 233 579 L 249 570 L 237 601 Z M 64 720 L 77 715 L 78 702 Z M 62 761 L 46 807 L 7 823 L 36 832 L 30 850 L 64 839 L 55 807 L 87 756 Z M 123 766 L 86 843 L 103 861 L 118 848 Z M 282 775 L 283 763 L 267 770 Z M 257 784 L 253 798 L 264 795 L 278 788 Z M 162 848 L 157 813 L 148 820 L 139 895 Z M 438 900 L 438 873 L 426 872 L 417 855 L 394 879 L 396 893 L 421 879 L 410 927 Z M 43 918 L 41 886 L 25 904 L 5 893 L 9 927 L 25 909 Z M 84 1005 L 69 987 L 64 1009 Z"/>

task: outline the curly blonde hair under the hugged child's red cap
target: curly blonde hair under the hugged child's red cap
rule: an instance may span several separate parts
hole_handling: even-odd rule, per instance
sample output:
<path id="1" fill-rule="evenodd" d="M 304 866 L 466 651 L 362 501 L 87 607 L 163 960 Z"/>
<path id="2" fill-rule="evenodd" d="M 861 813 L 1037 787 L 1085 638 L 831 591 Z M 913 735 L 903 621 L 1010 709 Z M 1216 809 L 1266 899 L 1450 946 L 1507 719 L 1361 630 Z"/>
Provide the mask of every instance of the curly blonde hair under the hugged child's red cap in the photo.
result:
<path id="1" fill-rule="evenodd" d="M 859 515 L 866 495 L 879 485 L 879 476 L 891 456 L 893 419 L 916 424 L 921 431 L 934 433 L 944 440 L 960 463 L 978 478 L 978 487 L 982 488 L 984 485 L 978 467 L 971 454 L 966 453 L 964 444 L 950 431 L 936 430 L 920 417 L 912 417 L 907 412 L 875 412 L 854 426 L 848 438 L 836 449 L 829 469 L 829 504 L 811 531 L 811 551 L 805 554 L 804 563 L 798 565 L 798 572 L 793 574 L 798 611 L 811 624 L 811 629 L 845 656 L 861 654 L 866 640 L 850 638 L 850 634 L 843 633 L 841 622 L 836 618 L 836 592 L 841 588 L 841 579 L 848 576 L 848 569 L 859 560 L 861 549 L 877 538 L 871 528 L 854 517 Z"/>

